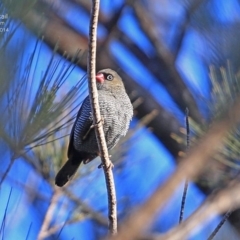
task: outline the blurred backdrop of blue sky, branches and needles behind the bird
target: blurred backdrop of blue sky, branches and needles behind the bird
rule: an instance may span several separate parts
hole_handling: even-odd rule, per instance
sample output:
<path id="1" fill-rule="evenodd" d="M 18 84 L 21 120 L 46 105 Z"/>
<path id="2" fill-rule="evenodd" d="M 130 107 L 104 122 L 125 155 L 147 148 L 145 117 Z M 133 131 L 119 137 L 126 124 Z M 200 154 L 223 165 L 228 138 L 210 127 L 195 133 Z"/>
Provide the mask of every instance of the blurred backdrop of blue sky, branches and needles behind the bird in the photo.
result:
<path id="1" fill-rule="evenodd" d="M 91 1 L 0 1 L 0 236 L 2 239 L 101 239 L 108 206 L 100 159 L 81 166 L 63 189 L 74 117 L 88 94 Z M 122 76 L 134 106 L 127 136 L 112 150 L 118 219 L 124 220 L 174 171 L 190 141 L 240 92 L 238 0 L 102 0 L 97 70 Z M 239 131 L 190 183 L 186 219 L 239 169 Z M 184 183 L 183 183 L 184 184 Z M 142 239 L 179 221 L 183 184 Z M 194 231 L 208 239 L 221 216 Z M 240 239 L 235 211 L 214 239 Z"/>

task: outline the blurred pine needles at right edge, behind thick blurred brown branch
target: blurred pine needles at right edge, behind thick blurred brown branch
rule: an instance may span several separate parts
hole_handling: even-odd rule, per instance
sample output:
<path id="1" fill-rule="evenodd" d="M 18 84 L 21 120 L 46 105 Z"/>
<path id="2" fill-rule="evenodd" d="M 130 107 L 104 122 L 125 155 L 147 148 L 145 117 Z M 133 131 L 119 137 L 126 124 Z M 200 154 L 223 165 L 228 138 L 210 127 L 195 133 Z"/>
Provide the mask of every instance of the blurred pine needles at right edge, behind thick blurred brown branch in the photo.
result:
<path id="1" fill-rule="evenodd" d="M 211 98 L 204 100 L 207 103 L 210 118 L 205 124 L 199 125 L 190 118 L 191 145 L 195 145 L 198 139 L 204 136 L 212 124 L 228 111 L 229 107 L 240 96 L 240 74 L 234 74 L 231 64 L 228 68 L 216 69 L 210 67 L 210 80 L 212 83 Z M 183 143 L 185 139 L 178 140 Z M 201 177 L 201 184 L 211 187 L 223 186 L 227 181 L 236 177 L 240 169 L 240 125 L 229 132 L 224 140 L 224 145 L 219 146 L 213 160 L 209 161 Z"/>

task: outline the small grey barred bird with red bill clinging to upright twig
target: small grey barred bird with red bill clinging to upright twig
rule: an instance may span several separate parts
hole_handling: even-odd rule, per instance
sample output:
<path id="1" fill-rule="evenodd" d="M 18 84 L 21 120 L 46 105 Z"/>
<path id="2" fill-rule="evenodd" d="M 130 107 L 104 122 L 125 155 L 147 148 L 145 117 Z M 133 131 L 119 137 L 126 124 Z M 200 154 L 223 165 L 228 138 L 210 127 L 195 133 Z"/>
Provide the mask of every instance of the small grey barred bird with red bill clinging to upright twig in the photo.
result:
<path id="1" fill-rule="evenodd" d="M 121 77 L 111 69 L 96 75 L 98 101 L 108 150 L 125 136 L 133 116 L 133 107 Z M 79 165 L 99 156 L 89 96 L 85 98 L 73 124 L 68 146 L 68 160 L 58 172 L 55 184 L 65 185 Z"/>

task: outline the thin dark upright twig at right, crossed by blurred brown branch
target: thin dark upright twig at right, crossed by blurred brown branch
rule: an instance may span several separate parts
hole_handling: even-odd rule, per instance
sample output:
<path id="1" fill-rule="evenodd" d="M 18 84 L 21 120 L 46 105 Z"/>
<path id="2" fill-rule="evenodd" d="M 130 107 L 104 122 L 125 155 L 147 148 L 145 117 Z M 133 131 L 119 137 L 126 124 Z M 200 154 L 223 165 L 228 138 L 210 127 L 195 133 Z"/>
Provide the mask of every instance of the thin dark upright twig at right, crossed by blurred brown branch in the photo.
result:
<path id="1" fill-rule="evenodd" d="M 190 129 L 189 129 L 189 119 L 188 119 L 188 108 L 185 111 L 186 113 L 186 145 L 187 145 L 187 150 L 189 149 L 189 134 L 190 134 Z M 179 216 L 179 223 L 182 222 L 183 220 L 183 214 L 184 214 L 184 208 L 185 208 L 185 203 L 187 199 L 187 191 L 188 191 L 188 179 L 185 180 L 184 183 L 184 189 L 183 189 L 183 195 L 182 195 L 182 203 L 181 203 L 181 209 L 180 209 L 180 216 Z"/>

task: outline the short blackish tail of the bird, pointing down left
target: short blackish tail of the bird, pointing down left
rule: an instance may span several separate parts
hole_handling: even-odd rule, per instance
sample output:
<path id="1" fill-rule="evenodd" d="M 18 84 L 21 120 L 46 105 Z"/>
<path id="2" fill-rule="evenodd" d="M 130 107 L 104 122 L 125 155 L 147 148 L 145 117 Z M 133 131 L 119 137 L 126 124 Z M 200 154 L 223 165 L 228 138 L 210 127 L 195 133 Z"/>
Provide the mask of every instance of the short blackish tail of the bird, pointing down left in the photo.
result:
<path id="1" fill-rule="evenodd" d="M 68 159 L 55 177 L 55 184 L 59 187 L 65 185 L 76 173 L 80 164 L 81 161 L 72 161 L 71 158 Z"/>

